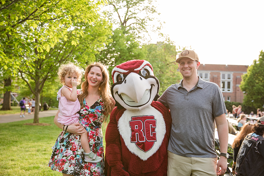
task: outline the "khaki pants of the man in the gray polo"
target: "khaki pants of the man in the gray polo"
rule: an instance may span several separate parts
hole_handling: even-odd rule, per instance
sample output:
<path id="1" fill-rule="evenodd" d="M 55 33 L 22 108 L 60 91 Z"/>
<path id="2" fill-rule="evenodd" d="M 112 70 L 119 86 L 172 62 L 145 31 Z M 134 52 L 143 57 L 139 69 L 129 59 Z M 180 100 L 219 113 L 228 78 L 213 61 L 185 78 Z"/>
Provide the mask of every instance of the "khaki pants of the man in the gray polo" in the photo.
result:
<path id="1" fill-rule="evenodd" d="M 168 151 L 168 176 L 215 176 L 217 158 L 182 157 Z"/>

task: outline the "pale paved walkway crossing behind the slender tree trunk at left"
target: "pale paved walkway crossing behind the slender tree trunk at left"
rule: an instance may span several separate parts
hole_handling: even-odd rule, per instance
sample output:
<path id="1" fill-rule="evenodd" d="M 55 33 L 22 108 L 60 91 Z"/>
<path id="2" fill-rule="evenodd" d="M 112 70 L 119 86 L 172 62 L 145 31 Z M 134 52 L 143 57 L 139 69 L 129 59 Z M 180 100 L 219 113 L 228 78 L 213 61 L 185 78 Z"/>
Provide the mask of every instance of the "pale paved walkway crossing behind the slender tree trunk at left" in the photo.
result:
<path id="1" fill-rule="evenodd" d="M 40 111 L 39 118 L 55 116 L 57 112 L 58 110 Z M 34 119 L 34 114 L 28 115 L 28 113 L 26 113 L 25 118 L 20 118 L 20 114 L 4 114 L 4 115 L 0 115 L 0 124 L 14 122 L 14 121 L 27 120 L 27 119 Z"/>

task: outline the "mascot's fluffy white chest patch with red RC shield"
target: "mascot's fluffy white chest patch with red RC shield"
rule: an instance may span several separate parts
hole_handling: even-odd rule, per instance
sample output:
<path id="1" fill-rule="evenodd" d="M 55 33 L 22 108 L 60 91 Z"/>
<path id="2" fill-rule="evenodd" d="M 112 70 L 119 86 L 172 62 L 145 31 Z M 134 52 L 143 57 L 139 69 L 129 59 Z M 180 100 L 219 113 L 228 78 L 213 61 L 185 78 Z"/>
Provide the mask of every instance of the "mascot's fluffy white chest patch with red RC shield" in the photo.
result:
<path id="1" fill-rule="evenodd" d="M 118 131 L 129 151 L 145 161 L 161 146 L 166 124 L 152 106 L 138 111 L 127 109 L 118 120 Z"/>

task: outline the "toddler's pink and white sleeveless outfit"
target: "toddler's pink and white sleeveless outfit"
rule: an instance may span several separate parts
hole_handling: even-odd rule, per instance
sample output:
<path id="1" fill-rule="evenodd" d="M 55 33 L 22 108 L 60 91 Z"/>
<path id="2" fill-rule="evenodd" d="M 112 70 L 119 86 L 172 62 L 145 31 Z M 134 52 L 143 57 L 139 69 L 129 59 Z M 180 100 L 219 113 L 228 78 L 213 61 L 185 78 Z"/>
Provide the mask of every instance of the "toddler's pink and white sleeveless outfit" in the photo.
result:
<path id="1" fill-rule="evenodd" d="M 67 87 L 67 86 L 62 86 L 63 87 Z M 61 123 L 62 125 L 70 125 L 73 123 L 77 123 L 79 122 L 79 114 L 77 114 L 78 111 L 80 111 L 81 105 L 80 102 L 78 100 L 78 98 L 76 99 L 75 102 L 72 102 L 70 100 L 68 100 L 66 97 L 62 97 L 61 96 L 61 90 L 62 88 L 60 88 L 60 90 L 58 91 L 58 95 L 57 95 L 57 100 L 59 100 L 59 117 L 58 117 L 58 122 Z M 67 87 L 68 89 L 70 89 L 70 91 L 72 92 L 72 88 Z M 78 93 L 78 92 L 77 92 Z"/>

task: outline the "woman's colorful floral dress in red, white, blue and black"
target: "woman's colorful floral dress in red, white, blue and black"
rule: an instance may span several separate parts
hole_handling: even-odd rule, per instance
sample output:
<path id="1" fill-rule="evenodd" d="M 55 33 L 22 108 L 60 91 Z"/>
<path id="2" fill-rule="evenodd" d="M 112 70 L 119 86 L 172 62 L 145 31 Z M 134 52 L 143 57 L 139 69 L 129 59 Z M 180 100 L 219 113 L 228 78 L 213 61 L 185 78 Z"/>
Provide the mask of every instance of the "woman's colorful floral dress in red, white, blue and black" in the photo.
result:
<path id="1" fill-rule="evenodd" d="M 83 108 L 80 114 L 80 124 L 88 131 L 90 149 L 102 161 L 91 163 L 84 161 L 84 150 L 80 143 L 80 136 L 62 131 L 53 147 L 48 166 L 52 170 L 61 173 L 80 176 L 104 175 L 104 151 L 103 151 L 103 101 L 99 98 L 91 107 L 83 100 Z"/>

